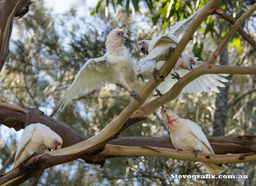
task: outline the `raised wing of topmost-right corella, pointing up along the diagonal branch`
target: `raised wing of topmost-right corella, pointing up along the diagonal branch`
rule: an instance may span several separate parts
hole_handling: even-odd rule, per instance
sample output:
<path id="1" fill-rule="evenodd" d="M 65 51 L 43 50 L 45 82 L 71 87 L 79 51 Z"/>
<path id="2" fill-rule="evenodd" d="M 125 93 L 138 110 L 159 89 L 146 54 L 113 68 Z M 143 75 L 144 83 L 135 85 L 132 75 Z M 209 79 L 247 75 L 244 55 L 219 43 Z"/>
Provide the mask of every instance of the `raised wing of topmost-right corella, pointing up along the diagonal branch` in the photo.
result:
<path id="1" fill-rule="evenodd" d="M 178 22 L 176 22 L 173 25 L 173 27 L 170 29 L 168 34 L 173 34 L 176 37 L 183 35 L 185 33 L 185 31 L 188 29 L 189 25 L 192 23 L 192 21 L 197 16 L 197 14 L 203 9 L 203 7 L 200 8 L 199 10 L 197 10 L 195 13 L 193 13 L 187 19 L 179 20 Z"/>

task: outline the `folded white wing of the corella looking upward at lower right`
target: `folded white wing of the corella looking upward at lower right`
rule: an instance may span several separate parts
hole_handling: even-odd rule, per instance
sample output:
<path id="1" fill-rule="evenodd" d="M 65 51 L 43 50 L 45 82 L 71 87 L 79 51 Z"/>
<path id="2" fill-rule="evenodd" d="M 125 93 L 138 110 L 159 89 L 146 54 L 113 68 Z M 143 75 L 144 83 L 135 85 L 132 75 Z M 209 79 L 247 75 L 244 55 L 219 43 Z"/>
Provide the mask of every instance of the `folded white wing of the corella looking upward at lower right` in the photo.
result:
<path id="1" fill-rule="evenodd" d="M 181 119 L 183 123 L 187 126 L 188 130 L 196 136 L 196 138 L 201 141 L 207 149 L 214 154 L 214 151 L 211 148 L 210 143 L 208 142 L 206 136 L 204 135 L 202 128 L 199 127 L 195 122 L 192 122 L 191 120 L 188 119 Z"/>

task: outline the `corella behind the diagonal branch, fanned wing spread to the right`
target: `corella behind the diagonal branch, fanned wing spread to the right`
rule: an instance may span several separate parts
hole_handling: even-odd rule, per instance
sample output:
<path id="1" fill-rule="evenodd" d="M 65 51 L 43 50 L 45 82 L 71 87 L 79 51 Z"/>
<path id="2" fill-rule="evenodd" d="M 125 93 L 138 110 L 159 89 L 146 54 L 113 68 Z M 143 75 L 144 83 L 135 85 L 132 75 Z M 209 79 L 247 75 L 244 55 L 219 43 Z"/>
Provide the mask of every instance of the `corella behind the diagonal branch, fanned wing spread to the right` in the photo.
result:
<path id="1" fill-rule="evenodd" d="M 177 79 L 173 79 L 172 76 L 176 76 L 180 79 L 180 76 L 184 76 L 189 71 L 204 64 L 204 62 L 200 62 L 197 59 L 197 57 L 193 57 L 190 54 L 182 53 L 181 58 L 178 59 L 170 74 L 166 76 L 165 81 L 158 86 L 159 91 L 161 91 L 162 94 L 165 94 L 172 88 L 178 81 Z M 164 63 L 165 61 L 159 61 L 157 63 L 157 68 L 161 68 Z M 153 72 L 153 68 L 153 63 L 148 63 L 148 65 L 144 66 L 139 73 L 143 75 L 144 79 L 149 79 Z M 182 92 L 210 92 L 211 89 L 214 92 L 219 93 L 219 89 L 216 86 L 225 87 L 221 82 L 228 82 L 229 80 L 223 78 L 223 76 L 226 77 L 228 75 L 229 74 L 204 74 L 185 86 Z"/>

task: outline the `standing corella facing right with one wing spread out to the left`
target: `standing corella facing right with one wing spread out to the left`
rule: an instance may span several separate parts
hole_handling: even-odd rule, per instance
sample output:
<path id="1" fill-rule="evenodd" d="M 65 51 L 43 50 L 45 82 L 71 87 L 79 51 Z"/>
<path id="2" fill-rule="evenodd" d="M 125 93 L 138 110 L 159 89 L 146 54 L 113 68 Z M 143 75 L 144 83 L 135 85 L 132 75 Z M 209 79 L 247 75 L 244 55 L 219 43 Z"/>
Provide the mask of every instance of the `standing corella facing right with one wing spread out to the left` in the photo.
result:
<path id="1" fill-rule="evenodd" d="M 79 70 L 68 92 L 55 107 L 51 116 L 84 91 L 90 91 L 105 87 L 106 83 L 117 83 L 131 93 L 131 96 L 139 100 L 142 81 L 136 78 L 137 70 L 127 48 L 122 44 L 129 40 L 123 29 L 116 28 L 109 32 L 106 39 L 105 55 L 99 58 L 89 59 Z"/>

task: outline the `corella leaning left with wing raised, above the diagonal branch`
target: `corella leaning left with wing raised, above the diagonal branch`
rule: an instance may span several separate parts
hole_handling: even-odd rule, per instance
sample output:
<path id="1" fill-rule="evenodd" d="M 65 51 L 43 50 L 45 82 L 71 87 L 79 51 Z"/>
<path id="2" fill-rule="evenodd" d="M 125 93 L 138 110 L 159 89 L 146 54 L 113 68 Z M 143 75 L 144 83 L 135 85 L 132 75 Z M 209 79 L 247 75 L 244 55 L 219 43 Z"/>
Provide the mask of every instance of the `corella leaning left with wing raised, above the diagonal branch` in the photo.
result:
<path id="1" fill-rule="evenodd" d="M 144 63 L 150 60 L 153 61 L 153 76 L 156 81 L 157 79 L 155 75 L 159 75 L 157 70 L 157 63 L 161 60 L 167 60 L 179 42 L 178 36 L 185 33 L 189 25 L 192 23 L 202 8 L 196 11 L 193 15 L 189 16 L 187 19 L 176 22 L 176 24 L 172 27 L 172 29 L 170 29 L 168 33 L 157 36 L 152 40 L 139 41 L 137 44 L 137 48 L 144 54 L 147 54 L 147 56 L 141 59 L 139 63 Z"/>

